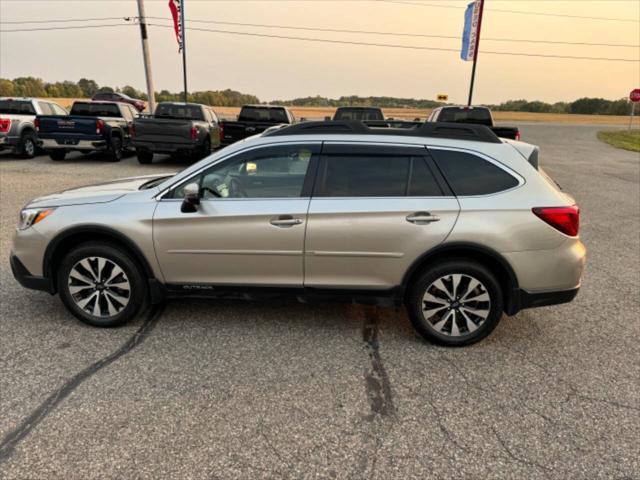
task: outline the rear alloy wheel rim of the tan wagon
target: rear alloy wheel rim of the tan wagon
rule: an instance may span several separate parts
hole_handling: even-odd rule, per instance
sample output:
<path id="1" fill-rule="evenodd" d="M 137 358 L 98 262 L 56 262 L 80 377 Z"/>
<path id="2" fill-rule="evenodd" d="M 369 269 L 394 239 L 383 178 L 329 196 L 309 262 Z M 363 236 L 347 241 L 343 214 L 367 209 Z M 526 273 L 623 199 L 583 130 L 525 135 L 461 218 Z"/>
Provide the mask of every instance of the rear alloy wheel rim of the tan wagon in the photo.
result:
<path id="1" fill-rule="evenodd" d="M 487 288 L 471 275 L 444 275 L 427 287 L 422 315 L 437 333 L 452 337 L 471 335 L 489 317 L 491 298 Z"/>

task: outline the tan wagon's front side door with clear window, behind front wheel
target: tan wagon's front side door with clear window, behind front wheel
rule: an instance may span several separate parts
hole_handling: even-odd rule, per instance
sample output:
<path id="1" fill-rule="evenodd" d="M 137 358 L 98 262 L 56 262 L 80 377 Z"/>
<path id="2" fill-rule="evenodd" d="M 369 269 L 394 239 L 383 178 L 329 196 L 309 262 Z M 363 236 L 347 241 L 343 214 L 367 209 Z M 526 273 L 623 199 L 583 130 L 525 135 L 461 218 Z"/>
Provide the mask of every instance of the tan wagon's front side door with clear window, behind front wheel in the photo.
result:
<path id="1" fill-rule="evenodd" d="M 320 143 L 258 147 L 178 185 L 153 219 L 165 281 L 301 287 L 309 178 L 319 151 Z M 184 186 L 194 182 L 200 205 L 182 213 Z"/>

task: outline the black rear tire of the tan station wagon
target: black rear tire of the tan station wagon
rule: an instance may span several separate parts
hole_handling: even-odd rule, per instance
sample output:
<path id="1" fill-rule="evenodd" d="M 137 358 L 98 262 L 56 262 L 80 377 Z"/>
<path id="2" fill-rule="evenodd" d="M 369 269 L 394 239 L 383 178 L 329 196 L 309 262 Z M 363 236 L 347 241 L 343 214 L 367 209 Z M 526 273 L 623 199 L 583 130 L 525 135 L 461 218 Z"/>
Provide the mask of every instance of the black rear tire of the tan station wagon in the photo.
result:
<path id="1" fill-rule="evenodd" d="M 461 290 L 463 293 L 465 292 L 465 282 L 468 287 L 474 285 L 469 279 L 479 281 L 480 285 L 475 289 L 466 289 L 469 292 L 466 297 L 469 299 L 482 298 L 483 300 L 488 298 L 488 300 L 467 300 L 465 303 L 456 300 L 457 295 L 452 295 L 453 298 L 449 299 L 454 282 L 454 277 L 449 277 L 450 275 L 461 275 L 461 277 L 457 277 L 460 279 L 457 292 Z M 434 282 L 438 279 L 444 279 L 444 283 L 441 285 L 445 286 L 448 293 L 444 293 L 443 290 L 434 286 Z M 438 297 L 437 303 L 424 300 L 428 290 Z M 438 292 L 443 293 L 439 295 Z M 433 298 L 433 295 L 428 298 Z M 425 339 L 439 345 L 459 347 L 476 343 L 493 331 L 502 318 L 503 295 L 500 284 L 489 269 L 470 260 L 450 259 L 433 265 L 416 278 L 409 286 L 406 305 L 411 323 Z M 441 305 L 445 306 L 441 307 Z M 438 311 L 427 319 L 423 314 L 423 311 L 427 310 Z M 453 312 L 450 312 L 451 310 Z M 488 313 L 485 314 L 484 312 L 487 311 Z M 483 320 L 481 316 L 470 312 L 482 312 L 486 318 Z M 451 316 L 445 321 L 444 317 L 449 313 Z M 469 321 L 472 322 L 471 325 L 468 323 Z M 452 322 L 456 322 L 455 327 Z M 440 329 L 438 329 L 438 325 L 440 325 Z"/>

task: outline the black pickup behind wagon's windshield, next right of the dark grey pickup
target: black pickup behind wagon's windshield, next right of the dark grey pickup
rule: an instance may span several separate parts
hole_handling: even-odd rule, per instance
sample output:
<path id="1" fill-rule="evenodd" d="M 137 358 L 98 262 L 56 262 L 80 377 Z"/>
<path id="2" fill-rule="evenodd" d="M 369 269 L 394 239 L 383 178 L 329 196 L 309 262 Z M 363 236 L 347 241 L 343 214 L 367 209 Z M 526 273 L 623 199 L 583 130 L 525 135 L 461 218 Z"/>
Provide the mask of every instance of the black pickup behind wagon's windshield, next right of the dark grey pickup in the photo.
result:
<path id="1" fill-rule="evenodd" d="M 238 121 L 220 124 L 222 146 L 264 132 L 274 125 L 292 124 L 296 119 L 286 107 L 275 105 L 245 105 L 240 109 Z"/>

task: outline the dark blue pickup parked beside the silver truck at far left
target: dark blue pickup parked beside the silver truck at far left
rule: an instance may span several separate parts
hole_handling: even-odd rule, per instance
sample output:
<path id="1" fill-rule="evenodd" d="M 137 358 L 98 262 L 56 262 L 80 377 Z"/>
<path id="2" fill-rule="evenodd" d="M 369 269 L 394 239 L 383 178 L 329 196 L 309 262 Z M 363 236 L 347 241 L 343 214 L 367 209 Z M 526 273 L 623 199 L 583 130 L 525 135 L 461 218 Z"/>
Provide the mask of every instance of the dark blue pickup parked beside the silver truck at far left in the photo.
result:
<path id="1" fill-rule="evenodd" d="M 106 152 L 112 162 L 130 147 L 136 109 L 127 103 L 75 102 L 69 115 L 38 115 L 34 121 L 38 144 L 52 160 L 67 152 Z"/>

